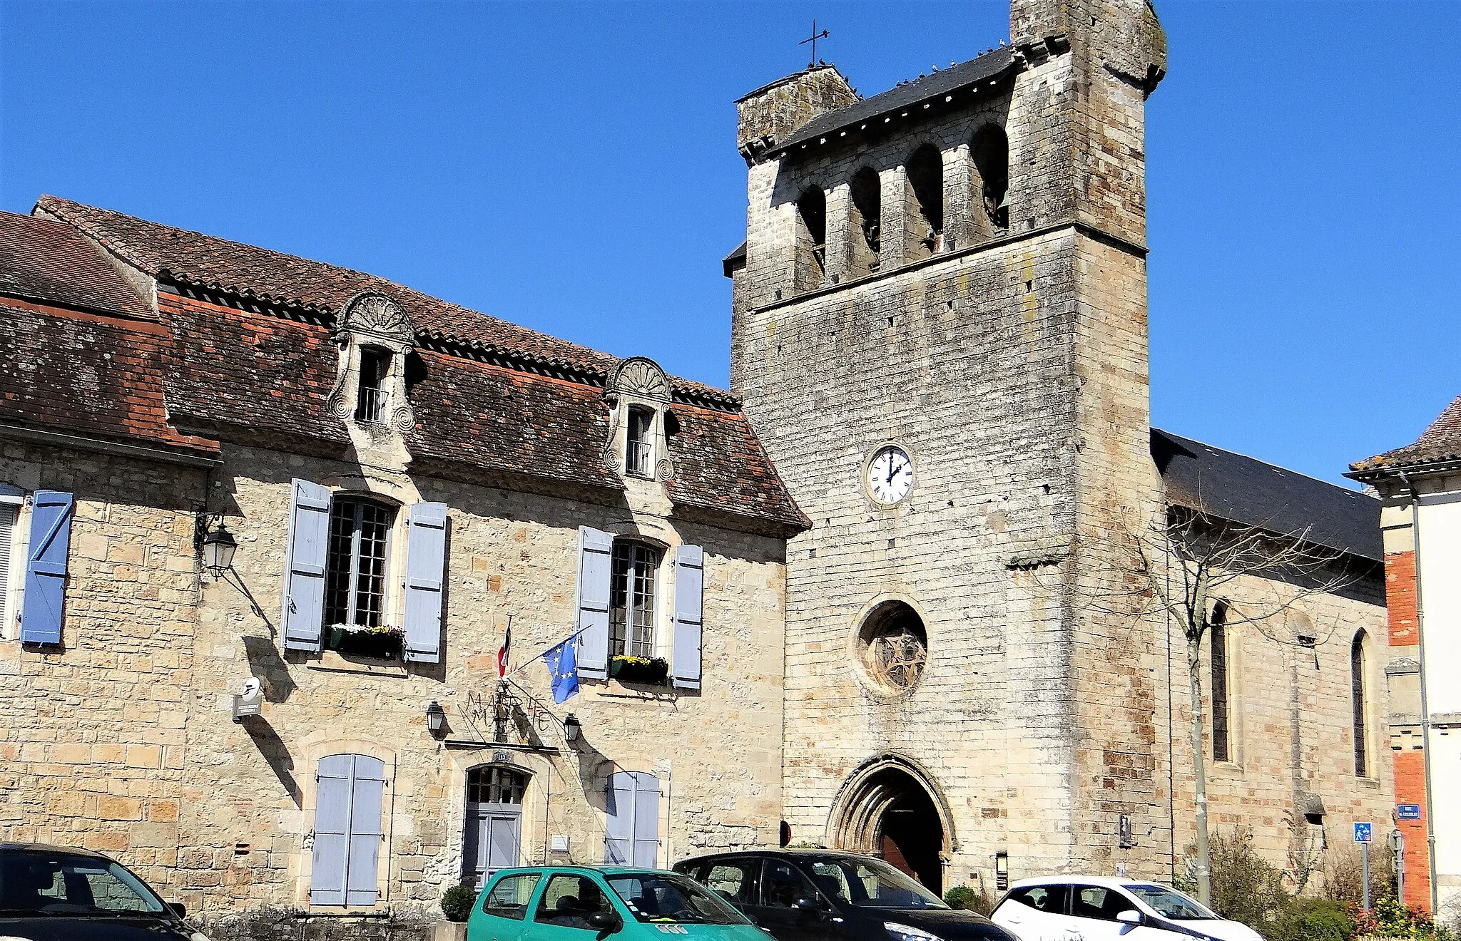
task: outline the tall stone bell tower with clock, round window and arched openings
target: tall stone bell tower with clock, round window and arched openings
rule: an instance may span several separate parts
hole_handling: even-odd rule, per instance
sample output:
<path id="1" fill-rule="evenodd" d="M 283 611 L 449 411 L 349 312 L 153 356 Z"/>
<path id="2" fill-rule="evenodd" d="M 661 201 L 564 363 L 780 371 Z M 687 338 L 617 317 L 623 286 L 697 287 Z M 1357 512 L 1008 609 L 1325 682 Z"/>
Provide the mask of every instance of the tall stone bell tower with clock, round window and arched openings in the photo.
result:
<path id="1" fill-rule="evenodd" d="M 1159 877 L 1159 627 L 1100 614 L 1148 454 L 1145 0 L 1014 0 L 1012 44 L 859 98 L 738 104 L 732 388 L 787 549 L 786 818 L 939 888 Z M 1112 575 L 1110 578 L 1115 578 Z M 1160 764 L 1160 766 L 1159 766 Z"/>

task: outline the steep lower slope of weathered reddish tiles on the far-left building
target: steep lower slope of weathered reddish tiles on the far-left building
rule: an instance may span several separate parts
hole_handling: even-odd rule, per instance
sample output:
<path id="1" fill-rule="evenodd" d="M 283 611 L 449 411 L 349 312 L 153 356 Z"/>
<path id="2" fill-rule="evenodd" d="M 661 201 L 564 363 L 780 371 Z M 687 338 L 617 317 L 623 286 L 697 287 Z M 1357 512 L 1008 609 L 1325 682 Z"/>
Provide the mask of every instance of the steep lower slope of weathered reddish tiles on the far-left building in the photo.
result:
<path id="1" fill-rule="evenodd" d="M 212 457 L 168 425 L 169 343 L 156 322 L 0 299 L 0 423 Z"/>

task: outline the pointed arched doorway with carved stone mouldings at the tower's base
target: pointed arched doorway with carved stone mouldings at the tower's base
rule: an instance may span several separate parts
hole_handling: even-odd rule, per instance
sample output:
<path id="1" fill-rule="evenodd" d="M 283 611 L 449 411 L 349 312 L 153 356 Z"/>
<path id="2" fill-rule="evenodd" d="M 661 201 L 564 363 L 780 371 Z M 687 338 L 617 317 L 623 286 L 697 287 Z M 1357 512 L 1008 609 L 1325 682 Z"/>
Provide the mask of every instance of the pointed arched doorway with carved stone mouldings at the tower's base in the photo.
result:
<path id="1" fill-rule="evenodd" d="M 882 856 L 944 894 L 948 814 L 912 762 L 884 756 L 858 769 L 837 795 L 827 834 L 831 846 Z"/>

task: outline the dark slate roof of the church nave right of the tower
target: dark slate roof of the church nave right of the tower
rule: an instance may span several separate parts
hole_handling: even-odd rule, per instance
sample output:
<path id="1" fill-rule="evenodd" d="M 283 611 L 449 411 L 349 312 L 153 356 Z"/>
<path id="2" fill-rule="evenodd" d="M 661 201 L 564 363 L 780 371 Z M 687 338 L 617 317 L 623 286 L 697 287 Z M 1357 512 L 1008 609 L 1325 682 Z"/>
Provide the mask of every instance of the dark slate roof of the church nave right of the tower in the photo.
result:
<path id="1" fill-rule="evenodd" d="M 1151 429 L 1167 503 L 1381 562 L 1379 500 L 1265 461 Z"/>

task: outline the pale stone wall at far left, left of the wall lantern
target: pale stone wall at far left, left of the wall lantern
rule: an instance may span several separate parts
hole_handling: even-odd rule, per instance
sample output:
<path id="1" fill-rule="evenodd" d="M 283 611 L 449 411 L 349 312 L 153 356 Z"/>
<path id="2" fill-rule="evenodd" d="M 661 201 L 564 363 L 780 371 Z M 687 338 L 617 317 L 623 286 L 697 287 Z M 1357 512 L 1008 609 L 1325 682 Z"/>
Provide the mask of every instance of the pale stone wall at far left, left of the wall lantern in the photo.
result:
<path id="1" fill-rule="evenodd" d="M 0 480 L 76 495 L 64 649 L 0 643 L 0 840 L 85 846 L 177 886 L 203 474 L 0 442 Z"/>

